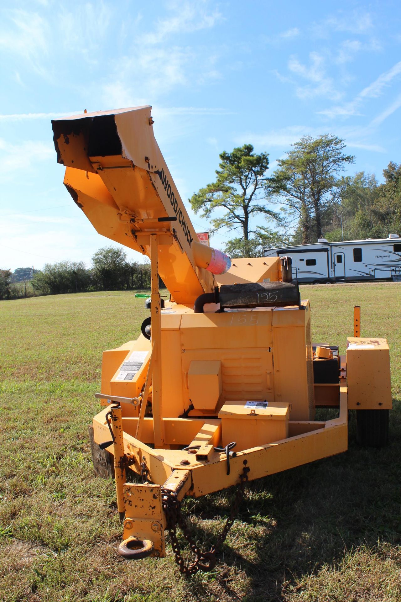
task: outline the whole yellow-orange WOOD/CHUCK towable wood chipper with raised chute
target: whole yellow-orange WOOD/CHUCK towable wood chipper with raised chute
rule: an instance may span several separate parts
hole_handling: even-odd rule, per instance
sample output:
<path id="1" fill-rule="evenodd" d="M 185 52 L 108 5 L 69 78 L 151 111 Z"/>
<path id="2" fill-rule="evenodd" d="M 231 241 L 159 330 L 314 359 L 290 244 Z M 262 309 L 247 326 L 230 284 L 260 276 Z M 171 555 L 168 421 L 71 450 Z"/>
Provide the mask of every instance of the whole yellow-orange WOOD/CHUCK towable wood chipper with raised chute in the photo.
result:
<path id="1" fill-rule="evenodd" d="M 349 410 L 358 439 L 384 445 L 391 408 L 385 339 L 361 338 L 358 308 L 346 356 L 311 341 L 310 303 L 290 258 L 269 258 L 263 281 L 197 235 L 153 134 L 151 107 L 52 122 L 64 184 L 97 232 L 150 258 L 150 315 L 136 341 L 103 352 L 94 440 L 114 456 L 118 548 L 126 558 L 165 556 L 165 530 L 183 573 L 209 570 L 248 480 L 347 449 Z M 214 275 L 225 272 L 216 286 Z M 230 276 L 231 274 L 231 276 Z M 170 291 L 165 302 L 159 276 Z M 329 291 L 328 291 L 329 294 Z M 135 315 L 132 316 L 133 321 Z M 316 408 L 337 408 L 316 420 Z M 109 456 L 111 457 L 111 456 Z M 140 479 L 129 482 L 127 474 Z M 132 479 L 130 479 L 132 481 Z M 216 545 L 201 551 L 181 510 L 238 487 Z M 177 525 L 194 552 L 185 565 Z"/>

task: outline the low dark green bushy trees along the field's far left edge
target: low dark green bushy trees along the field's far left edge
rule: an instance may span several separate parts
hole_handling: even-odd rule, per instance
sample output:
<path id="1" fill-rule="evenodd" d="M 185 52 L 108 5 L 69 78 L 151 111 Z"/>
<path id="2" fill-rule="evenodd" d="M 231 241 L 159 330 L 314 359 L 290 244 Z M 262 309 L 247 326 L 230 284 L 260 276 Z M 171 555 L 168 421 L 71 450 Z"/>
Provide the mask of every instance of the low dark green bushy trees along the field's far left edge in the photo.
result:
<path id="1" fill-rule="evenodd" d="M 10 270 L 0 270 L 0 300 L 27 296 L 26 287 L 24 294 L 12 276 Z M 129 262 L 123 249 L 103 247 L 94 253 L 90 268 L 83 261 L 47 263 L 35 270 L 30 282 L 28 296 L 150 288 L 150 263 Z"/>

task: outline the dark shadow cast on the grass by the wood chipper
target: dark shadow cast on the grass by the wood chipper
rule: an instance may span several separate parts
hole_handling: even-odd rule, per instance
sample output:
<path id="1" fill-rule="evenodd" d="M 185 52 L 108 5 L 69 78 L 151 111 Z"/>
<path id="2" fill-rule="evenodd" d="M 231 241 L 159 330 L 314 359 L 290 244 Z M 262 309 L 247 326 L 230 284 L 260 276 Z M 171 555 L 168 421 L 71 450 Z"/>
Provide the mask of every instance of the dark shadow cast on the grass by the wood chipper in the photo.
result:
<path id="1" fill-rule="evenodd" d="M 235 544 L 224 544 L 219 559 L 224 554 L 226 566 L 218 563 L 212 578 L 232 600 L 284 601 L 287 588 L 296 586 L 302 576 L 316 573 L 323 564 L 335 568 L 344 553 L 352 553 L 360 545 L 372 550 L 378 541 L 399 545 L 400 458 L 401 417 L 397 411 L 390 412 L 390 444 L 381 450 L 356 444 L 352 416 L 346 453 L 249 485 L 238 517 L 242 524 L 234 524 L 231 541 L 241 541 L 242 546 L 243 541 L 248 542 L 250 553 L 245 559 L 241 554 L 243 547 L 236 551 Z M 230 494 L 231 491 L 231 499 Z M 224 520 L 229 504 L 221 512 L 221 500 L 218 494 L 200 498 L 193 503 L 189 515 L 195 523 L 196 518 L 219 516 Z M 213 533 L 197 524 L 192 528 L 194 536 L 206 542 L 204 549 L 215 541 L 214 527 Z M 244 530 L 248 530 L 246 535 Z M 245 596 L 231 591 L 233 566 L 249 578 L 251 585 Z M 207 577 L 204 582 L 188 582 L 187 587 L 192 595 L 209 599 Z"/>

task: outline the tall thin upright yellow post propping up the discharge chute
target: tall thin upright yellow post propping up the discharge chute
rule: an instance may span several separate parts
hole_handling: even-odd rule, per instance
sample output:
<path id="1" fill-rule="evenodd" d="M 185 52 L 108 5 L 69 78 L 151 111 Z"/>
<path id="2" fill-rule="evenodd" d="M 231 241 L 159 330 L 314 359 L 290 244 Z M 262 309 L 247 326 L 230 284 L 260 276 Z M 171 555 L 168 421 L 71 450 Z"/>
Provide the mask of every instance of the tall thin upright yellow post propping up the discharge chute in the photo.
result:
<path id="1" fill-rule="evenodd" d="M 152 410 L 155 446 L 164 445 L 162 422 L 162 353 L 161 353 L 161 300 L 159 292 L 158 235 L 150 235 L 150 275 L 152 294 L 150 295 L 150 340 L 152 341 Z M 142 403 L 146 400 L 142 400 Z"/>

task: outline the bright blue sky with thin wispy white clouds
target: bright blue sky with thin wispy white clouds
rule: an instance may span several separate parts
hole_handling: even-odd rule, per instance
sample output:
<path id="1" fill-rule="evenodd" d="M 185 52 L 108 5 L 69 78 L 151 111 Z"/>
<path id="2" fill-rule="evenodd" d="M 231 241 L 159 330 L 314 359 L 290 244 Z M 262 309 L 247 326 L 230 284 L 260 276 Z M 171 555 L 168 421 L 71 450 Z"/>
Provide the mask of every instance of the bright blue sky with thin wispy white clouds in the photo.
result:
<path id="1" fill-rule="evenodd" d="M 251 143 L 273 171 L 304 134 L 345 138 L 350 173 L 381 181 L 401 161 L 400 25 L 395 1 L 3 0 L 0 267 L 89 265 L 109 244 L 65 190 L 52 142 L 52 117 L 85 108 L 152 105 L 185 201 L 213 181 L 219 152 Z"/>

